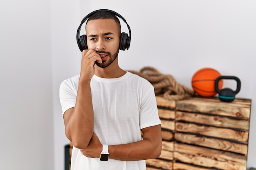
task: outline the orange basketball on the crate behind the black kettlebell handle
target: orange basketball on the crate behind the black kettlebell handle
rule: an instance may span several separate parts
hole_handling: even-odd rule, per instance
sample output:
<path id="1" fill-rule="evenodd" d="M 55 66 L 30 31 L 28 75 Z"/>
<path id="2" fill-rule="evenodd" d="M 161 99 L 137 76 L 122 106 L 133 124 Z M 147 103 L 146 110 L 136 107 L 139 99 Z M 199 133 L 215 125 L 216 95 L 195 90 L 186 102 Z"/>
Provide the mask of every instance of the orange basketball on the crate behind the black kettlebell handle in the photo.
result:
<path id="1" fill-rule="evenodd" d="M 214 88 L 215 80 L 220 73 L 213 68 L 202 68 L 195 72 L 191 83 L 195 93 L 202 97 L 212 97 L 217 94 Z M 223 81 L 219 81 L 219 89 L 223 86 Z"/>

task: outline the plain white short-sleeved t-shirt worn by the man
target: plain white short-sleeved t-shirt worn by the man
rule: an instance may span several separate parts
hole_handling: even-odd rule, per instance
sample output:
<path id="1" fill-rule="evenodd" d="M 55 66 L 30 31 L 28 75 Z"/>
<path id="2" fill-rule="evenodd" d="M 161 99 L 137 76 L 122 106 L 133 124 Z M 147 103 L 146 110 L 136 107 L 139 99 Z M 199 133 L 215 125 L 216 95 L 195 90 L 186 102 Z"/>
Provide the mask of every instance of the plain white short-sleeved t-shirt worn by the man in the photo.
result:
<path id="1" fill-rule="evenodd" d="M 75 106 L 79 75 L 60 86 L 63 114 Z M 141 140 L 140 129 L 161 124 L 154 88 L 146 79 L 127 72 L 119 78 L 91 79 L 94 133 L 101 144 L 127 144 Z M 146 170 L 145 161 L 88 158 L 73 147 L 71 170 Z"/>

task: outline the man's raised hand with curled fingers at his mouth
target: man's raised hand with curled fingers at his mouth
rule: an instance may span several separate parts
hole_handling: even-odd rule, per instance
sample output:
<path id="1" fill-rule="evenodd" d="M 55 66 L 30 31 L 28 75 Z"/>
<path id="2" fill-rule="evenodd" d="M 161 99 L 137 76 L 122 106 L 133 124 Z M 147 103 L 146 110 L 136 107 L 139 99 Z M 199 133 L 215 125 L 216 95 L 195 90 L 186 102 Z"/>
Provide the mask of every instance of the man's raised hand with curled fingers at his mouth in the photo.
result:
<path id="1" fill-rule="evenodd" d="M 92 79 L 95 62 L 102 63 L 100 55 L 93 49 L 83 50 L 80 79 L 85 81 Z"/>

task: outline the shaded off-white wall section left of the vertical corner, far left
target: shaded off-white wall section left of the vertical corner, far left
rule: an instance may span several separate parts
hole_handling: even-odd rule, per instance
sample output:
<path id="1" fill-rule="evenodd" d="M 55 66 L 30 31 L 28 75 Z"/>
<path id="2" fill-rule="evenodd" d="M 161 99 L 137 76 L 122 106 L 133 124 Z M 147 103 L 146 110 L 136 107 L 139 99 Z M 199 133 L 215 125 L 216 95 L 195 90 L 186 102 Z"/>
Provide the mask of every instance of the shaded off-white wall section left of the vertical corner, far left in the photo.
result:
<path id="1" fill-rule="evenodd" d="M 49 0 L 0 2 L 0 169 L 52 170 Z"/>

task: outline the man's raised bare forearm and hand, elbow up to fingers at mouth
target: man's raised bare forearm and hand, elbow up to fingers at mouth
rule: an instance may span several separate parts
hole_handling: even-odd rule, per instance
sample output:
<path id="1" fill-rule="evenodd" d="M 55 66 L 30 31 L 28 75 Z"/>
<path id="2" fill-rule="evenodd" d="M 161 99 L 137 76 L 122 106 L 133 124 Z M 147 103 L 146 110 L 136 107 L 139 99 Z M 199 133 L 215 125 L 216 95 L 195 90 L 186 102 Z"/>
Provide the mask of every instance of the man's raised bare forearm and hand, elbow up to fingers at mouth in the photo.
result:
<path id="1" fill-rule="evenodd" d="M 95 62 L 102 63 L 95 50 L 83 50 L 81 74 L 76 95 L 76 104 L 65 111 L 63 116 L 65 134 L 76 148 L 87 148 L 94 130 L 94 111 L 90 80 L 94 75 Z M 70 94 L 68 94 L 70 95 Z"/>

